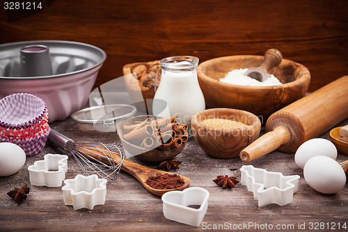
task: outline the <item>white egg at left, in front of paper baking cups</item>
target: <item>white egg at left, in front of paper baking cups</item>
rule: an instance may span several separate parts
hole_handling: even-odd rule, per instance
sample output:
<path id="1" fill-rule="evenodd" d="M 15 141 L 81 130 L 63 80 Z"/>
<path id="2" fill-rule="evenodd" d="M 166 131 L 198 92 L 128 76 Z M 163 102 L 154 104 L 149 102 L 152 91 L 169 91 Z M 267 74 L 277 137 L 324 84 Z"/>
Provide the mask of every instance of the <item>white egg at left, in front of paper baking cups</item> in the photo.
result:
<path id="1" fill-rule="evenodd" d="M 0 176 L 10 176 L 22 169 L 26 160 L 24 150 L 11 143 L 0 143 Z"/>

